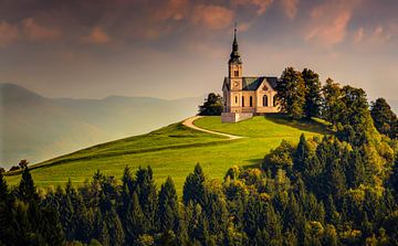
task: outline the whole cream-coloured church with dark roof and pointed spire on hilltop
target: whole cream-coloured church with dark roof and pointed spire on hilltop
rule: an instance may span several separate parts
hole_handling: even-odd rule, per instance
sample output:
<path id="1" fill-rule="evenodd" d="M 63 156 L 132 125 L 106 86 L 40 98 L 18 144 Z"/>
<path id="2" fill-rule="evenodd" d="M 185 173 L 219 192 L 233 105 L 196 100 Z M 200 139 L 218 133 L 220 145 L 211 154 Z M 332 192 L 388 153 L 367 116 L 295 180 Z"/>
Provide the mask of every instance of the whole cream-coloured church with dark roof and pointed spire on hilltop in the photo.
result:
<path id="1" fill-rule="evenodd" d="M 276 100 L 277 77 L 243 76 L 243 65 L 239 53 L 237 28 L 233 33 L 232 52 L 228 62 L 228 77 L 222 85 L 222 122 L 238 122 L 254 115 L 279 113 Z"/>

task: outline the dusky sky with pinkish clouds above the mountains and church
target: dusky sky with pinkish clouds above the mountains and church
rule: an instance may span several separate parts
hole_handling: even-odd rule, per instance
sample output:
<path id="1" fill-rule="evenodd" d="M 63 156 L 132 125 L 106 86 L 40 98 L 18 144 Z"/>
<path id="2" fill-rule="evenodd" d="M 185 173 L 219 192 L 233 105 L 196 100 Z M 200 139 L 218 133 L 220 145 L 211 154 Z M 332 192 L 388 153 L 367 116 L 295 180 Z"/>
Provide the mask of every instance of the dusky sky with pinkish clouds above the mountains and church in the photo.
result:
<path id="1" fill-rule="evenodd" d="M 48 97 L 220 92 L 233 25 L 243 75 L 308 67 L 398 99 L 397 0 L 0 0 L 0 83 Z"/>

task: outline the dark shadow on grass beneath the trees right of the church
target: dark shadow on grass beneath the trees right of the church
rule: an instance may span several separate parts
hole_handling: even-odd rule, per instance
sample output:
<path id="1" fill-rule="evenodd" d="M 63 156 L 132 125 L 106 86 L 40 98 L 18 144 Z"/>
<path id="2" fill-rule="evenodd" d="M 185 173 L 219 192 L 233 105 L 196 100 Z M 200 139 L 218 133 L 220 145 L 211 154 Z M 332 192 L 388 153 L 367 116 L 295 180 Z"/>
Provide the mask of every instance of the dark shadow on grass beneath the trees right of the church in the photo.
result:
<path id="1" fill-rule="evenodd" d="M 314 120 L 314 119 L 307 119 L 307 118 L 300 119 L 300 120 L 293 120 L 289 116 L 286 116 L 285 114 L 282 114 L 282 113 L 266 114 L 264 116 L 264 118 L 272 122 L 290 126 L 290 127 L 296 128 L 298 130 L 306 130 L 306 131 L 312 131 L 312 132 L 321 133 L 321 135 L 334 133 L 329 129 L 329 125 L 326 121 L 322 121 L 322 120 Z M 308 128 L 308 126 L 311 126 L 311 127 Z"/>

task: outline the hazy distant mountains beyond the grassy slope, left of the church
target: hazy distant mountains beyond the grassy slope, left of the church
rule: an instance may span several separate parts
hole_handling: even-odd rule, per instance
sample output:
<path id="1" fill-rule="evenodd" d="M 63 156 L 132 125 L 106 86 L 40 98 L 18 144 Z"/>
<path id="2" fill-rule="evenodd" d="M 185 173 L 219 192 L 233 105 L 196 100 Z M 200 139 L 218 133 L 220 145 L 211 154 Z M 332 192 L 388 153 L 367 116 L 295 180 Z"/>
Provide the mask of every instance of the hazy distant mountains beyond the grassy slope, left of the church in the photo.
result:
<path id="1" fill-rule="evenodd" d="M 0 165 L 46 160 L 95 143 L 139 135 L 197 113 L 202 98 L 111 96 L 46 98 L 0 84 Z"/>

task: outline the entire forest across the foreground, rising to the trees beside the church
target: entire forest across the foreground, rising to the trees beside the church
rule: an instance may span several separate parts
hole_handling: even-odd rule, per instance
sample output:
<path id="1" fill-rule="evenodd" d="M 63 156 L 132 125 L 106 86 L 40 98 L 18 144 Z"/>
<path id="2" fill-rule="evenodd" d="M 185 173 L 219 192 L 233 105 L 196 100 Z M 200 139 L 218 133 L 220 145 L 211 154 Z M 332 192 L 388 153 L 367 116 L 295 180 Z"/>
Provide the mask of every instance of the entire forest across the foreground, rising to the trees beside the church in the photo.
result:
<path id="1" fill-rule="evenodd" d="M 333 135 L 282 140 L 258 168 L 211 180 L 200 164 L 178 197 L 172 177 L 100 170 L 83 185 L 38 191 L 25 167 L 18 186 L 0 172 L 0 245 L 398 245 L 397 117 L 360 88 L 287 67 L 283 111 L 316 117 Z"/>

